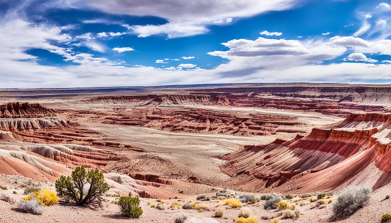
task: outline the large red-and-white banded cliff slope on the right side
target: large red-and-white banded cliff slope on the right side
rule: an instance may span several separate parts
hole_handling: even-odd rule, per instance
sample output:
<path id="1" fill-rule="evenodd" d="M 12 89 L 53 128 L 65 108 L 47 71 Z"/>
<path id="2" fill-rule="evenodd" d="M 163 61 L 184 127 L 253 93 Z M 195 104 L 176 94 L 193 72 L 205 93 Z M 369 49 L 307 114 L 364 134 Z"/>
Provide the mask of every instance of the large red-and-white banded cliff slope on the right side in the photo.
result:
<path id="1" fill-rule="evenodd" d="M 224 156 L 228 162 L 222 171 L 240 179 L 233 184 L 244 188 L 272 186 L 285 191 L 293 186 L 298 193 L 329 191 L 372 177 L 377 179 L 372 182 L 377 189 L 391 182 L 389 118 L 389 114 L 352 114 L 341 124 L 343 128 L 314 128 L 292 141 L 245 146 Z M 371 127 L 357 129 L 357 125 Z M 373 168 L 377 171 L 367 170 Z M 376 175 L 379 171 L 381 177 Z"/>

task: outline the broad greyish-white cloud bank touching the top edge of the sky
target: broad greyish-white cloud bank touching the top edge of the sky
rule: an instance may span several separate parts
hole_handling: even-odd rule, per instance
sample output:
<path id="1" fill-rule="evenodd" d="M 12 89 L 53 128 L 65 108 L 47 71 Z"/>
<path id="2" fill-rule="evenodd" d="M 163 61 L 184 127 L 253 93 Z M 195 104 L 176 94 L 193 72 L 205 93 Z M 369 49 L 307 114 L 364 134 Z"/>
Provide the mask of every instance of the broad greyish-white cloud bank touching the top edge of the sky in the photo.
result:
<path id="1" fill-rule="evenodd" d="M 167 19 L 162 25 L 134 25 L 127 27 L 138 37 L 165 34 L 169 38 L 194 36 L 208 32 L 208 25 L 227 25 L 235 18 L 246 18 L 269 11 L 283 11 L 297 0 L 68 0 L 72 7 L 98 9 L 109 14 L 156 16 Z M 126 27 L 124 25 L 124 27 Z"/>

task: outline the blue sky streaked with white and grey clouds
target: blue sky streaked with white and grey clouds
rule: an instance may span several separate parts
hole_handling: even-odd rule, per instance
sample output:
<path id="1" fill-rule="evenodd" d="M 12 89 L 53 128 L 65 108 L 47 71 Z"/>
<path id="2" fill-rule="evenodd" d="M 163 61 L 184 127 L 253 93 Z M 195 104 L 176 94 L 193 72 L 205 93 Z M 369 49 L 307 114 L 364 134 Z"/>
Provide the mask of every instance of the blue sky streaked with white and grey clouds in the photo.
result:
<path id="1" fill-rule="evenodd" d="M 391 83 L 391 2 L 0 0 L 0 87 Z"/>

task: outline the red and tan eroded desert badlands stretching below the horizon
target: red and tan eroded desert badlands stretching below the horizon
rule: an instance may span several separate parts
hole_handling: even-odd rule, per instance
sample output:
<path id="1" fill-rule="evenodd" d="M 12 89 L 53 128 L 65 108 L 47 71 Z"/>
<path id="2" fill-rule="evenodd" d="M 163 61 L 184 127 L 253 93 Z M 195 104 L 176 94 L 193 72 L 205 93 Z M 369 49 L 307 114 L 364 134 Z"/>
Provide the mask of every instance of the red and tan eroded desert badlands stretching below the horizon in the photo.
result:
<path id="1" fill-rule="evenodd" d="M 391 208 L 390 92 L 309 83 L 0 89 L 0 221 L 380 222 Z M 40 215 L 18 208 L 27 188 L 56 191 L 77 166 L 102 171 L 101 208 L 61 198 Z M 335 218 L 352 186 L 370 188 L 368 202 Z M 123 216 L 120 196 L 140 197 L 142 215 Z M 278 197 L 274 208 L 268 196 Z"/>

